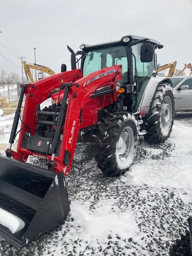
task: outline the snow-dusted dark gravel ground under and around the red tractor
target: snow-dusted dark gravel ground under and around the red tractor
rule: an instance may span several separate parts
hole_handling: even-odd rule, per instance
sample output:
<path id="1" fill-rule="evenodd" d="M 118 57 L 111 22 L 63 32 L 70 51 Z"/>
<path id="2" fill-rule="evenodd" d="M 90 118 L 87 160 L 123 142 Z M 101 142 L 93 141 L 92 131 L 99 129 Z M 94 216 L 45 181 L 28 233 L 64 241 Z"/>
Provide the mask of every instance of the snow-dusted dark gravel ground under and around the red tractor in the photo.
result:
<path id="1" fill-rule="evenodd" d="M 1 119 L 0 127 L 10 130 L 11 122 Z M 176 119 L 164 144 L 140 137 L 133 165 L 120 177 L 102 174 L 94 145 L 79 143 L 66 177 L 65 224 L 21 250 L 0 238 L 0 255 L 170 255 L 192 213 L 191 124 L 192 116 Z M 33 157 L 28 162 L 46 167 Z"/>

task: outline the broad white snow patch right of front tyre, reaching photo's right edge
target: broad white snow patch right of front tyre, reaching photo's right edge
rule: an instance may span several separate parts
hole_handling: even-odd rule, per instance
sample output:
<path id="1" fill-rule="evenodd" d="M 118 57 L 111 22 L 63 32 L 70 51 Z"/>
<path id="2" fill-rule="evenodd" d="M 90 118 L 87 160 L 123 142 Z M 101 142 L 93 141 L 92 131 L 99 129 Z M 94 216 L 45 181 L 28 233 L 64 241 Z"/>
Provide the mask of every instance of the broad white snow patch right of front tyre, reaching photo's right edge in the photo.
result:
<path id="1" fill-rule="evenodd" d="M 148 185 L 155 188 L 168 187 L 192 190 L 192 129 L 181 126 L 175 121 L 171 137 L 166 143 L 175 144 L 172 156 L 163 160 L 145 159 L 139 164 L 134 164 L 125 174 L 123 182 L 142 186 Z M 160 149 L 145 148 L 152 154 L 161 153 Z"/>

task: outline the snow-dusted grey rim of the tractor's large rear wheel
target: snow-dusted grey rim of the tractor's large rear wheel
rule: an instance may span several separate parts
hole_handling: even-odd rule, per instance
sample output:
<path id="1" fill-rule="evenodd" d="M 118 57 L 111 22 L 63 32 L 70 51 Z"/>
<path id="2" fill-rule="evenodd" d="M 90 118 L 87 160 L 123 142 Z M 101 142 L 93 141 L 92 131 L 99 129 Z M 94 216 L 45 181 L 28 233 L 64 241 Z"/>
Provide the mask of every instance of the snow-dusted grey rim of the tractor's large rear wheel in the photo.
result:
<path id="1" fill-rule="evenodd" d="M 162 130 L 169 130 L 172 118 L 172 103 L 171 98 L 166 96 L 161 107 L 161 127 Z"/>

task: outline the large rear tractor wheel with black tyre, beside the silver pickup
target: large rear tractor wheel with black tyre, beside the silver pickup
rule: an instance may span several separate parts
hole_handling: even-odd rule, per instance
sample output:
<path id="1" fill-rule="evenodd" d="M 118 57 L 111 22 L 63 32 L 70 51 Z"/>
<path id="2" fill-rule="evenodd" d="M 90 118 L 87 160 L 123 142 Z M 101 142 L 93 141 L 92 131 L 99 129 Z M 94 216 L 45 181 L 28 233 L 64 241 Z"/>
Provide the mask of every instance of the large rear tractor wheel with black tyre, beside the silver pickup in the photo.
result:
<path id="1" fill-rule="evenodd" d="M 175 116 L 175 100 L 170 84 L 159 85 L 145 113 L 146 140 L 161 143 L 170 137 Z"/>

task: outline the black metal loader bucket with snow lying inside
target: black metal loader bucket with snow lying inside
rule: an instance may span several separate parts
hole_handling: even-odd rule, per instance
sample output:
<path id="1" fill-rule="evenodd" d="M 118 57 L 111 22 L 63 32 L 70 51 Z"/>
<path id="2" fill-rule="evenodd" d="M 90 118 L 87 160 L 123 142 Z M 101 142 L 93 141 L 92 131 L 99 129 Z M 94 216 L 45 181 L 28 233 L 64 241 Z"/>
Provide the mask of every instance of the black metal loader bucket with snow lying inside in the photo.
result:
<path id="1" fill-rule="evenodd" d="M 69 212 L 62 173 L 0 156 L 0 236 L 20 249 Z"/>

